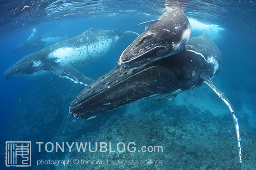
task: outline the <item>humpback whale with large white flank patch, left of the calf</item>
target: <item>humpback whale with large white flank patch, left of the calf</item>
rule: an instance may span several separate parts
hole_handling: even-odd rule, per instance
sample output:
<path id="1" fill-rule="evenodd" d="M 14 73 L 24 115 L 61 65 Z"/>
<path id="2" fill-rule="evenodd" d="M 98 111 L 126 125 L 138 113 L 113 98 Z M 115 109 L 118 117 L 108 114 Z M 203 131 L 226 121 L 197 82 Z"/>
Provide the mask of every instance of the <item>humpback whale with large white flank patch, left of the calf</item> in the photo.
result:
<path id="1" fill-rule="evenodd" d="M 84 67 L 106 55 L 114 44 L 122 43 L 126 38 L 135 39 L 134 32 L 118 30 L 89 29 L 77 37 L 45 47 L 40 51 L 26 55 L 5 71 L 4 76 L 38 76 L 49 71 L 60 77 L 71 79 L 75 83 L 87 85 L 93 80 L 75 69 Z"/>

